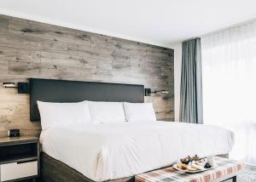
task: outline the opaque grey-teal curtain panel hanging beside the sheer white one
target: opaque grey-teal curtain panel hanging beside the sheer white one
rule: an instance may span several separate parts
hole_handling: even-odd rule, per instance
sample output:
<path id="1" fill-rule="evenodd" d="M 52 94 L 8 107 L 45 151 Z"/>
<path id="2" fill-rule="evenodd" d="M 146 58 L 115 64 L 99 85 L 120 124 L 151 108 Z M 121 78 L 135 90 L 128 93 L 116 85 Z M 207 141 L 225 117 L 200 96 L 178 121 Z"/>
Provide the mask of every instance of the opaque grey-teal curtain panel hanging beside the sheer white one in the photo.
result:
<path id="1" fill-rule="evenodd" d="M 203 123 L 201 84 L 201 38 L 195 38 L 183 42 L 179 117 L 181 122 Z"/>

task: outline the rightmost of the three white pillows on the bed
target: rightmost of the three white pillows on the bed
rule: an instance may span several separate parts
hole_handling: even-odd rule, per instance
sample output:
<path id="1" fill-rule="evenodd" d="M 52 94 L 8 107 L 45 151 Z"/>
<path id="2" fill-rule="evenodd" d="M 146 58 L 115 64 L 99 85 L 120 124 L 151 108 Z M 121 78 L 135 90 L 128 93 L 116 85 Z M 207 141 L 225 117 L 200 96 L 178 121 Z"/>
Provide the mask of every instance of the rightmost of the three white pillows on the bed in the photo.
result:
<path id="1" fill-rule="evenodd" d="M 152 103 L 124 103 L 127 122 L 155 122 Z"/>

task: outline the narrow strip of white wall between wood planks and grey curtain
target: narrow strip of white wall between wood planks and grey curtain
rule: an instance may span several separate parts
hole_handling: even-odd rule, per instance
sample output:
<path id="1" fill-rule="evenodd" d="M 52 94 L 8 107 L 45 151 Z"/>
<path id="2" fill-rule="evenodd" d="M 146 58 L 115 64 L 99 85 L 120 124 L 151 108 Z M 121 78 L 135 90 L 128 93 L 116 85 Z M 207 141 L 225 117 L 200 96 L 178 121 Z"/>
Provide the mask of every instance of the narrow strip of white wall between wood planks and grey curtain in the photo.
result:
<path id="1" fill-rule="evenodd" d="M 179 95 L 180 95 L 180 79 L 181 79 L 181 65 L 183 55 L 182 43 L 174 43 L 170 45 L 174 49 L 174 109 L 175 122 L 179 122 Z"/>

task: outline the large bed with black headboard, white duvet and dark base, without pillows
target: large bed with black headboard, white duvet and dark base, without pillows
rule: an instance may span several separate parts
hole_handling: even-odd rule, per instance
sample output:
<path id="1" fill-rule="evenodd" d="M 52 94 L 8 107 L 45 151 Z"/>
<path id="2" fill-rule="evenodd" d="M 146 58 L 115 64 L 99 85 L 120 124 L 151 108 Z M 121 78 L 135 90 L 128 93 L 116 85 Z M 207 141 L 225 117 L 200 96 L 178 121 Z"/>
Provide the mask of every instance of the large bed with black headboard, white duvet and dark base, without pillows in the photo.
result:
<path id="1" fill-rule="evenodd" d="M 36 100 L 144 101 L 142 85 L 98 82 L 31 79 L 30 94 L 32 121 L 40 119 Z M 188 154 L 228 154 L 234 135 L 182 122 L 80 123 L 44 129 L 40 143 L 44 181 L 133 181 L 137 173 L 170 166 Z"/>

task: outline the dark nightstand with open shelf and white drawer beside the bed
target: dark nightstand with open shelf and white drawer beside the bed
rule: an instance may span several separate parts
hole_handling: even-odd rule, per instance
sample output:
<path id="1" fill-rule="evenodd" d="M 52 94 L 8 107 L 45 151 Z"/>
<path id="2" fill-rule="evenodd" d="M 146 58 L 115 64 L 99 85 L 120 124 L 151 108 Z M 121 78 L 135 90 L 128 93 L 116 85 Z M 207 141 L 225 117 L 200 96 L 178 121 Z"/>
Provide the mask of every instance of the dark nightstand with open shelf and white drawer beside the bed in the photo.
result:
<path id="1" fill-rule="evenodd" d="M 35 180 L 40 172 L 39 154 L 36 137 L 0 138 L 0 180 Z"/>

